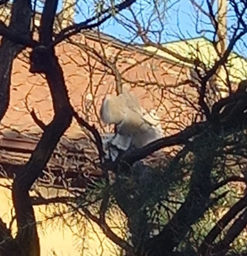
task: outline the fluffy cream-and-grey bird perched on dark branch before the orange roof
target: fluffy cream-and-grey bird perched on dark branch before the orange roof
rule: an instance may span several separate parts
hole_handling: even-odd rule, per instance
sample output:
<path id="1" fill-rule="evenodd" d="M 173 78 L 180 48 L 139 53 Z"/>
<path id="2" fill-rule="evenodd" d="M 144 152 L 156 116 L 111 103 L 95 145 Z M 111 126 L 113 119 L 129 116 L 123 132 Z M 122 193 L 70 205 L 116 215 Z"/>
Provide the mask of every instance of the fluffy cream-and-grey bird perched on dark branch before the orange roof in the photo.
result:
<path id="1" fill-rule="evenodd" d="M 154 111 L 152 114 L 154 115 Z M 122 150 L 127 150 L 131 145 L 141 148 L 164 136 L 163 131 L 156 127 L 155 121 L 148 118 L 140 107 L 128 85 L 122 86 L 119 95 L 107 94 L 104 97 L 100 117 L 105 124 L 116 125 L 116 134 L 111 144 Z"/>

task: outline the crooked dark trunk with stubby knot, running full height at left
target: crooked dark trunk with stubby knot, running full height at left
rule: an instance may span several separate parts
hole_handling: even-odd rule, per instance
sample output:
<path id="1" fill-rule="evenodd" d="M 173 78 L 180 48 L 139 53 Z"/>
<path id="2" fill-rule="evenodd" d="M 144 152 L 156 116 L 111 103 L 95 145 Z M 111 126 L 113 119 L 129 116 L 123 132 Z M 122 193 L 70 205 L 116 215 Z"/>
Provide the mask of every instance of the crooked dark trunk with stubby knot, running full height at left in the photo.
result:
<path id="1" fill-rule="evenodd" d="M 53 24 L 54 17 L 50 17 L 47 21 L 48 23 L 44 21 L 44 17 L 48 13 L 54 13 L 55 7 L 56 1 L 46 1 L 40 27 L 40 39 L 46 45 L 51 42 L 51 34 L 53 32 L 51 25 Z M 45 29 L 46 25 L 48 25 L 47 29 Z M 30 61 L 30 71 L 32 73 L 45 74 L 53 100 L 54 119 L 45 128 L 27 164 L 15 177 L 12 198 L 18 227 L 18 244 L 22 246 L 21 255 L 39 256 L 39 237 L 29 190 L 33 183 L 42 175 L 42 171 L 51 158 L 57 143 L 71 124 L 73 113 L 62 68 L 54 53 L 54 49 L 47 49 L 45 46 L 36 47 L 30 55 Z"/>

